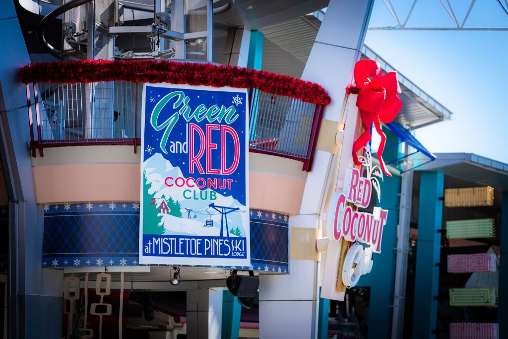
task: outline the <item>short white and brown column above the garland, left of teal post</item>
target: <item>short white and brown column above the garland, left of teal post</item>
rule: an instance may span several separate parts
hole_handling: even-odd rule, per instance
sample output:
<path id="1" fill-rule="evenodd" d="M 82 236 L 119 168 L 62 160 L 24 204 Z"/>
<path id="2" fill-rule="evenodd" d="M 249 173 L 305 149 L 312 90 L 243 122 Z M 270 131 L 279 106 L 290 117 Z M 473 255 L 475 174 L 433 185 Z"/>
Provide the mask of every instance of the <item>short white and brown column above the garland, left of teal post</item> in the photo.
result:
<path id="1" fill-rule="evenodd" d="M 247 67 L 249 55 L 250 30 L 231 28 L 226 36 L 223 55 L 228 58 L 226 65 Z"/>

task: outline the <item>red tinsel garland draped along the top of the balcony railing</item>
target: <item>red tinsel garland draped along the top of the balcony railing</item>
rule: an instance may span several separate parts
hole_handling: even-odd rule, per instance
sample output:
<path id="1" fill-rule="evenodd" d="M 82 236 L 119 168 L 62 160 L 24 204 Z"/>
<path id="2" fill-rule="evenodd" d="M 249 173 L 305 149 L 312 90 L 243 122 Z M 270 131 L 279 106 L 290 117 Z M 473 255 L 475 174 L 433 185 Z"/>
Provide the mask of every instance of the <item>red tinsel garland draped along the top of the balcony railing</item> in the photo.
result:
<path id="1" fill-rule="evenodd" d="M 19 71 L 23 83 L 78 83 L 131 81 L 206 85 L 212 87 L 257 88 L 261 91 L 328 105 L 330 96 L 320 85 L 265 71 L 243 67 L 169 60 L 82 60 L 36 63 Z"/>

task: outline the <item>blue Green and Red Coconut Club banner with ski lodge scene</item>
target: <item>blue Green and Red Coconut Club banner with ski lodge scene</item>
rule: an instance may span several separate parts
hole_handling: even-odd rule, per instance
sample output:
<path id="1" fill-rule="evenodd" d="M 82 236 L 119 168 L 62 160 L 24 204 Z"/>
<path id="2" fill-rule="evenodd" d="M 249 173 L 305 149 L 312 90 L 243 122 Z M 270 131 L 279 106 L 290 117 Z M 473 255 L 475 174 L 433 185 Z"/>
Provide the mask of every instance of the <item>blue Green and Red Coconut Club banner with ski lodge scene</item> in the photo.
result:
<path id="1" fill-rule="evenodd" d="M 250 265 L 247 90 L 145 84 L 141 264 Z"/>

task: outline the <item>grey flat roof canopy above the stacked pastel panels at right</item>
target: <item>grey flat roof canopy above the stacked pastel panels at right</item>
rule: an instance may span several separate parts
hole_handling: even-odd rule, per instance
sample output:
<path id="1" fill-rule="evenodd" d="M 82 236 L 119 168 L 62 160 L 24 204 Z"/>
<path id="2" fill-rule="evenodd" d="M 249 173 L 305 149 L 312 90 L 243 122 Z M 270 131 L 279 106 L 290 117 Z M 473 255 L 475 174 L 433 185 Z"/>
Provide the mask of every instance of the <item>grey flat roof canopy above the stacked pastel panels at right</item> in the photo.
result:
<path id="1" fill-rule="evenodd" d="M 437 153 L 436 157 L 419 170 L 439 171 L 508 192 L 508 164 L 473 153 Z"/>

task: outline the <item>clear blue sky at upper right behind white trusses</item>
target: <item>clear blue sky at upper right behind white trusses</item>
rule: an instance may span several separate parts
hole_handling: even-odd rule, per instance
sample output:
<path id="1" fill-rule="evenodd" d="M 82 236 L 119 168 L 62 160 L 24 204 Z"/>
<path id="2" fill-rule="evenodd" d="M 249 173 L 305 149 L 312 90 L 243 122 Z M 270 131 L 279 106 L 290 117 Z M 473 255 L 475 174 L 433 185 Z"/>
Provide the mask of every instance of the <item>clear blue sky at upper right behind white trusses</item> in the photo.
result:
<path id="1" fill-rule="evenodd" d="M 461 22 L 469 1 L 451 0 Z M 503 2 L 501 0 L 501 2 Z M 412 1 L 392 1 L 400 20 Z M 402 18 L 401 18 L 402 17 Z M 395 21 L 376 0 L 369 23 Z M 453 26 L 439 0 L 419 1 L 406 26 Z M 464 27 L 508 27 L 497 0 L 477 1 Z M 432 152 L 467 152 L 508 163 L 508 31 L 369 30 L 365 44 L 454 114 L 417 130 Z"/>

